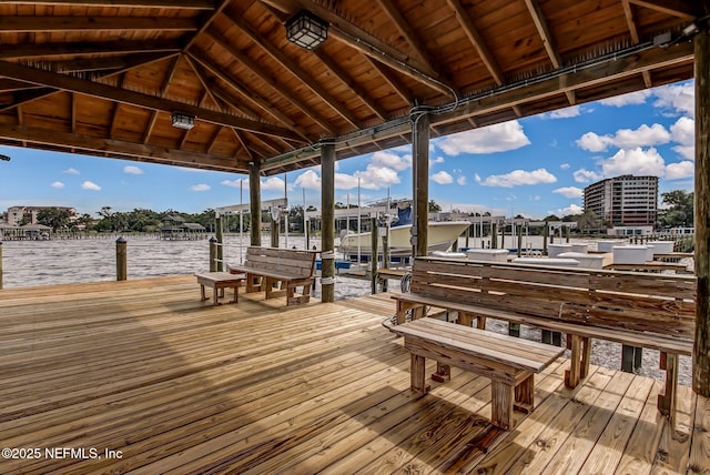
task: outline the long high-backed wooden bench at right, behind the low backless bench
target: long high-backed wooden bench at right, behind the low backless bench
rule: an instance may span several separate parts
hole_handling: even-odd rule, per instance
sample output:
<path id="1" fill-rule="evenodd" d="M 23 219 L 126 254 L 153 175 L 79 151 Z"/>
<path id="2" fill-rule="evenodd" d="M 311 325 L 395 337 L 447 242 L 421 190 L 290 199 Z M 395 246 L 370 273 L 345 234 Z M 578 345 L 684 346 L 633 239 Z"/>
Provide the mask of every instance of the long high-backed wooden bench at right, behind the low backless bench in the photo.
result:
<path id="1" fill-rule="evenodd" d="M 666 371 L 659 411 L 674 421 L 678 355 L 693 348 L 696 277 L 417 257 L 409 293 L 397 300 L 397 324 L 426 306 L 458 312 L 458 322 L 485 329 L 486 317 L 567 334 L 565 383 L 589 373 L 591 338 L 660 351 Z"/>

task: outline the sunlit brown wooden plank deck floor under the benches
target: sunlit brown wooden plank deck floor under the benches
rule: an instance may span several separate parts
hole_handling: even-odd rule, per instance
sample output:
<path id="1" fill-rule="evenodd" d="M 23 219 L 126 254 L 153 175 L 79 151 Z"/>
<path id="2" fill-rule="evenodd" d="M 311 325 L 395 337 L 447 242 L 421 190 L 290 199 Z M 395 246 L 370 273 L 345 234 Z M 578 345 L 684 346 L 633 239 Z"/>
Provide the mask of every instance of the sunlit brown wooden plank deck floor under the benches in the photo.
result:
<path id="1" fill-rule="evenodd" d="M 0 473 L 710 469 L 708 400 L 681 387 L 671 429 L 660 382 L 632 374 L 592 367 L 571 392 L 560 358 L 509 433 L 486 421 L 486 378 L 454 368 L 415 400 L 409 355 L 381 324 L 394 307 L 214 307 L 193 276 L 0 291 L 0 445 L 24 457 Z"/>

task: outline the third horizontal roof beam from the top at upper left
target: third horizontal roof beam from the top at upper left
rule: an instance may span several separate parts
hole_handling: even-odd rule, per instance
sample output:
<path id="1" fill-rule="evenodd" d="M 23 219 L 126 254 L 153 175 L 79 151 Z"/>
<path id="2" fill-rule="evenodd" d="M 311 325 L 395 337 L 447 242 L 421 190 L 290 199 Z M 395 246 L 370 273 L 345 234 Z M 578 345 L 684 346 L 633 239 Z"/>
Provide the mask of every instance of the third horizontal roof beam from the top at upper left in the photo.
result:
<path id="1" fill-rule="evenodd" d="M 180 52 L 180 41 L 106 41 L 91 43 L 0 44 L 2 59 L 49 59 L 64 55 L 115 55 L 149 52 Z"/>

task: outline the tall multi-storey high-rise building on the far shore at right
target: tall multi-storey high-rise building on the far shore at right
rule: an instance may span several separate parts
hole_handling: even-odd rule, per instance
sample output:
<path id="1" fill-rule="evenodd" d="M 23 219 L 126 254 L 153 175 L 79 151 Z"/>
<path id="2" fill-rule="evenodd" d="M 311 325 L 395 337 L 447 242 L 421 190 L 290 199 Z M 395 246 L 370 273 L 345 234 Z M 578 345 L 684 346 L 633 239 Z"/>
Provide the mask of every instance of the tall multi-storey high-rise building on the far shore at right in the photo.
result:
<path id="1" fill-rule="evenodd" d="M 585 188 L 585 211 L 615 226 L 655 225 L 658 176 L 621 175 Z"/>

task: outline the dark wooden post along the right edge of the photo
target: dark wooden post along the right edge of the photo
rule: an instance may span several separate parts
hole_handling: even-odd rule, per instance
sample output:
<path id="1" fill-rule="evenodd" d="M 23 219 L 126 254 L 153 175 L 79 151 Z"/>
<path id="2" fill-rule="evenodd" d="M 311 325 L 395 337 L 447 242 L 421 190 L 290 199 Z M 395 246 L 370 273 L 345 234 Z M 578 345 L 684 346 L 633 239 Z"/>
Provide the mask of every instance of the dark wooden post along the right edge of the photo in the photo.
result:
<path id="1" fill-rule="evenodd" d="M 696 340 L 692 388 L 710 396 L 710 31 L 701 27 L 694 38 L 696 58 Z"/>

